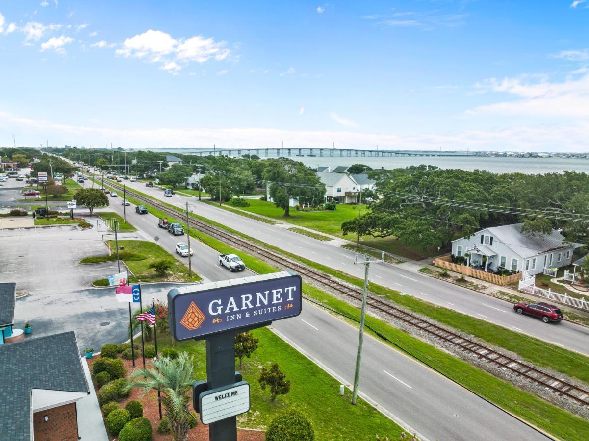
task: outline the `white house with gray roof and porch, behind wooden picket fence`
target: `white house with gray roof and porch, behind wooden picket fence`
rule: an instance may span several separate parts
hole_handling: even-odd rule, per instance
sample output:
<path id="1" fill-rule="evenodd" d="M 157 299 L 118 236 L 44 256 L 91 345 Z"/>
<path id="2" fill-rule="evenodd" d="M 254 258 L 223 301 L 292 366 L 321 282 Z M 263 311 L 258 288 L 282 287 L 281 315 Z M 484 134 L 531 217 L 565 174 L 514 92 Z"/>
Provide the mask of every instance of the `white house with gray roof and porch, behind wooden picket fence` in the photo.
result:
<path id="1" fill-rule="evenodd" d="M 505 268 L 526 271 L 530 276 L 542 273 L 544 267 L 571 264 L 573 251 L 581 244 L 565 241 L 555 230 L 550 234 L 524 234 L 520 231 L 522 225 L 485 228 L 471 237 L 453 240 L 452 254 L 465 257 L 467 266 L 479 270 Z"/>

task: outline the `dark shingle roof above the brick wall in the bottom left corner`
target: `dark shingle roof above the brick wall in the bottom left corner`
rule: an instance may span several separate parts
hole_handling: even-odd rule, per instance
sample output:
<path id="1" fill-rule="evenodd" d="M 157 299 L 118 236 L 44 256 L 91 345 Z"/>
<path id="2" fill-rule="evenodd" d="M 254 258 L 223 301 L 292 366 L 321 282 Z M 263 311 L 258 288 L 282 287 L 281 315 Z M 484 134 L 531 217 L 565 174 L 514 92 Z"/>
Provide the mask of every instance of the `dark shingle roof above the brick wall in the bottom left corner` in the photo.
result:
<path id="1" fill-rule="evenodd" d="M 0 366 L 0 439 L 32 439 L 31 389 L 90 393 L 73 331 L 2 344 Z"/>

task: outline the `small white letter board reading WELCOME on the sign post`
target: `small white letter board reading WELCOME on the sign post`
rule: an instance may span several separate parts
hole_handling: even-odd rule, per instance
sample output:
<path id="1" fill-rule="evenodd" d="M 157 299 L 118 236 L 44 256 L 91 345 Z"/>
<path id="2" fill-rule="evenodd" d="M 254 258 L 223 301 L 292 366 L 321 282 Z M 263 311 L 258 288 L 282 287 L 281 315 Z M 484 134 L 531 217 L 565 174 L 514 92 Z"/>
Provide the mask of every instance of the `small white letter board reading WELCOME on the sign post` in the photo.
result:
<path id="1" fill-rule="evenodd" d="M 198 399 L 201 421 L 203 424 L 214 423 L 250 410 L 250 385 L 239 382 L 207 390 Z"/>

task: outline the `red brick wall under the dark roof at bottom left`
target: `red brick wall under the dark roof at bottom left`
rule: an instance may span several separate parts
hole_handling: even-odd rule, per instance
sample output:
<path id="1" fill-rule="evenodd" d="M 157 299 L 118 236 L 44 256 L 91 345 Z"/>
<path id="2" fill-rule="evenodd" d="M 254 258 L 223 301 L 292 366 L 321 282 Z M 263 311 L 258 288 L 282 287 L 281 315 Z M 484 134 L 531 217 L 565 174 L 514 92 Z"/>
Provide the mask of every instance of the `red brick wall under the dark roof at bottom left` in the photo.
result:
<path id="1" fill-rule="evenodd" d="M 44 421 L 45 415 L 48 416 L 47 422 Z M 35 441 L 77 441 L 75 403 L 35 412 L 33 429 Z"/>

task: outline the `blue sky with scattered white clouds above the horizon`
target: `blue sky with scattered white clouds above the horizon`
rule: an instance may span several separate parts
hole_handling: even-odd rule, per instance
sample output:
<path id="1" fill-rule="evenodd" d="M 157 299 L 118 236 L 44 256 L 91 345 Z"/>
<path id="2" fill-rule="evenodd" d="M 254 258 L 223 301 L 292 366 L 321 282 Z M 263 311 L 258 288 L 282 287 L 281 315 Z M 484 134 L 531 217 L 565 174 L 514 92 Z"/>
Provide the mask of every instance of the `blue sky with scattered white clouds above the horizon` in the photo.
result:
<path id="1" fill-rule="evenodd" d="M 0 0 L 0 145 L 589 151 L 589 1 Z"/>

